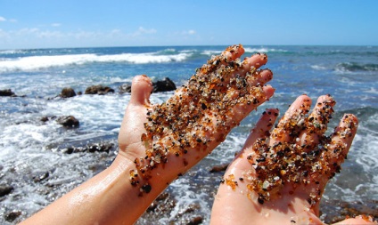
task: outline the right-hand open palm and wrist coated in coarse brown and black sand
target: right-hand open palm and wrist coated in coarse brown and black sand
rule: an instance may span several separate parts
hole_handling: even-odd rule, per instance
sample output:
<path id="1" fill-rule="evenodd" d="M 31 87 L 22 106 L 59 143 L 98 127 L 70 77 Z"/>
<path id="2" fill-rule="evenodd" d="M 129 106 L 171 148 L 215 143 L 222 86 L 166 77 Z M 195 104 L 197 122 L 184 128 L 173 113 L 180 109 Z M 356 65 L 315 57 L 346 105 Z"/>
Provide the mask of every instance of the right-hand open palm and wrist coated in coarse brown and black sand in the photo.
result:
<path id="1" fill-rule="evenodd" d="M 278 109 L 267 109 L 226 170 L 211 223 L 322 224 L 320 198 L 327 181 L 340 172 L 357 132 L 357 117 L 345 115 L 325 137 L 334 104 L 329 95 L 321 96 L 306 117 L 311 100 L 301 95 L 272 132 Z"/>

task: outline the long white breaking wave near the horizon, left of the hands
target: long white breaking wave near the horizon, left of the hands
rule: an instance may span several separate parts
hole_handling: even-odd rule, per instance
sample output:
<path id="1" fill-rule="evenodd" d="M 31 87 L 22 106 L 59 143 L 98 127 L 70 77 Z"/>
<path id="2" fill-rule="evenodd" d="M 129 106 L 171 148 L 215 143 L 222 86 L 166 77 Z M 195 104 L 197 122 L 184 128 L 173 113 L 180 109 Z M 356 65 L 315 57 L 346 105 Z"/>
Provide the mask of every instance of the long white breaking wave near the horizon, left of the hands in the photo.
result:
<path id="1" fill-rule="evenodd" d="M 147 53 L 121 53 L 114 55 L 66 54 L 51 56 L 29 56 L 15 60 L 1 60 L 0 73 L 10 71 L 30 71 L 41 68 L 62 67 L 67 65 L 82 65 L 91 62 L 127 62 L 127 63 L 164 63 L 171 61 L 183 61 L 190 56 L 189 53 L 160 55 L 155 52 Z"/>

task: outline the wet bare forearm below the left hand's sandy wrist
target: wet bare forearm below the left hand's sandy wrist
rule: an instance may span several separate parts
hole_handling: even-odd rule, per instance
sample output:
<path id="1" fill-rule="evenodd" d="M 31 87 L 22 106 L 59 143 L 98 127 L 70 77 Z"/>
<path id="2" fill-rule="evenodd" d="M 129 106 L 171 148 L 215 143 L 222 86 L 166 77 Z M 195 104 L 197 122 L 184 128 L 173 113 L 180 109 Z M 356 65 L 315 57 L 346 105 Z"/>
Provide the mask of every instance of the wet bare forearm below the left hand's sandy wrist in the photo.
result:
<path id="1" fill-rule="evenodd" d="M 167 184 L 154 183 L 150 193 L 139 197 L 140 190 L 129 181 L 131 169 L 132 162 L 117 157 L 102 173 L 22 224 L 133 224 Z"/>

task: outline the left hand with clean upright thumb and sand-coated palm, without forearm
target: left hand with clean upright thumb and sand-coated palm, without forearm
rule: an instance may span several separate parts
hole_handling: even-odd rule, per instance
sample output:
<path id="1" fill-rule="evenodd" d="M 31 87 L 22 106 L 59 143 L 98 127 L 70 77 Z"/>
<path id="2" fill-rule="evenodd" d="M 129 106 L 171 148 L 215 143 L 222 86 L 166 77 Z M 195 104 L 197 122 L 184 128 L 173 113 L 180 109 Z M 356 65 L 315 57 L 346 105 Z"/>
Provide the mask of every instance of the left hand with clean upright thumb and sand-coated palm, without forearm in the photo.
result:
<path id="1" fill-rule="evenodd" d="M 119 133 L 119 157 L 136 164 L 130 180 L 140 195 L 185 173 L 273 95 L 274 89 L 264 86 L 272 72 L 258 70 L 267 56 L 241 62 L 243 52 L 242 45 L 234 45 L 213 57 L 161 105 L 149 101 L 149 78 L 135 77 Z"/>

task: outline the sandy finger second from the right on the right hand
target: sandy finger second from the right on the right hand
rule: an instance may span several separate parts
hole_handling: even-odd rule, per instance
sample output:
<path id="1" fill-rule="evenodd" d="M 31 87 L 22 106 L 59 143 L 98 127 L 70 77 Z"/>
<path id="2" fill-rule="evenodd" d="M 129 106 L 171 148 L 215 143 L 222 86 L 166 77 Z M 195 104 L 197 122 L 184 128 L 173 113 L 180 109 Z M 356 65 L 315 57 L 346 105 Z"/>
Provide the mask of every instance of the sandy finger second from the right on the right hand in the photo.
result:
<path id="1" fill-rule="evenodd" d="M 317 99 L 316 106 L 305 120 L 304 130 L 297 141 L 302 149 L 310 151 L 319 143 L 319 138 L 325 134 L 328 122 L 333 116 L 335 104 L 336 101 L 330 95 L 323 95 Z"/>

